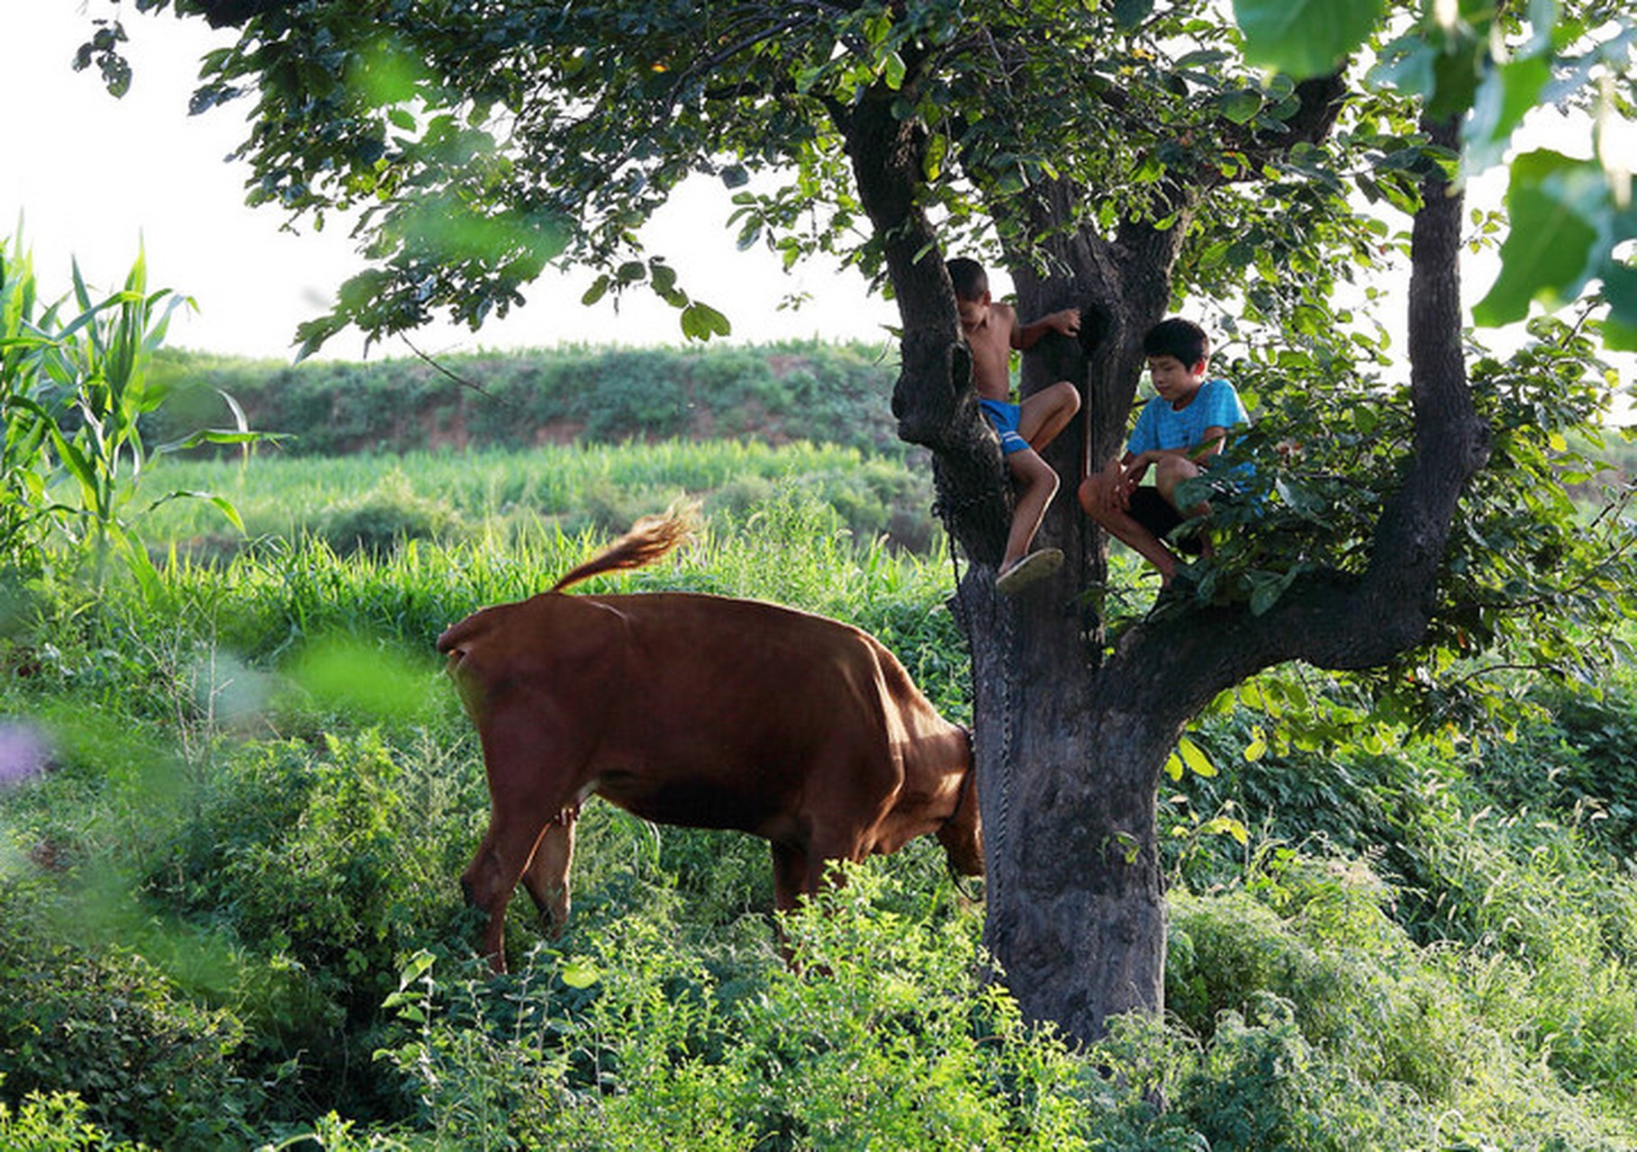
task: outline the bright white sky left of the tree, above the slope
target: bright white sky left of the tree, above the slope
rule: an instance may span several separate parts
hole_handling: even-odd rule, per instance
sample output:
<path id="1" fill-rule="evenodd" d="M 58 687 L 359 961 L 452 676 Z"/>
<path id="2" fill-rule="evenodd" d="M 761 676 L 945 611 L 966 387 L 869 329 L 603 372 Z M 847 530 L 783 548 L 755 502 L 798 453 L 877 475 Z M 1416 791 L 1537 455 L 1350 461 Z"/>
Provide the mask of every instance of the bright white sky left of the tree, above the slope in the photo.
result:
<path id="1" fill-rule="evenodd" d="M 201 20 L 139 15 L 126 5 L 134 80 L 123 100 L 95 69 L 74 72 L 74 52 L 90 38 L 105 0 L 0 0 L 0 237 L 21 219 L 25 247 L 43 286 L 70 285 L 70 259 L 93 288 L 124 281 L 141 247 L 149 288 L 192 296 L 167 345 L 249 357 L 290 358 L 296 326 L 327 309 L 336 288 L 363 267 L 345 224 L 285 231 L 273 208 L 244 205 L 241 162 L 224 157 L 246 134 L 250 101 L 187 115 L 200 57 L 232 41 Z M 727 227 L 728 193 L 715 182 L 683 185 L 647 236 L 681 272 L 684 290 L 727 313 L 735 342 L 782 339 L 881 340 L 897 309 L 868 295 L 864 278 L 837 265 L 805 263 L 784 273 L 763 249 L 740 252 Z M 589 273 L 547 272 L 529 303 L 476 334 L 439 324 L 413 334 L 427 353 L 558 344 L 683 344 L 678 311 L 652 293 L 629 293 L 619 309 L 581 306 Z M 779 309 L 792 293 L 800 309 Z M 345 332 L 322 355 L 355 360 L 362 337 Z M 396 339 L 372 357 L 411 355 Z"/>

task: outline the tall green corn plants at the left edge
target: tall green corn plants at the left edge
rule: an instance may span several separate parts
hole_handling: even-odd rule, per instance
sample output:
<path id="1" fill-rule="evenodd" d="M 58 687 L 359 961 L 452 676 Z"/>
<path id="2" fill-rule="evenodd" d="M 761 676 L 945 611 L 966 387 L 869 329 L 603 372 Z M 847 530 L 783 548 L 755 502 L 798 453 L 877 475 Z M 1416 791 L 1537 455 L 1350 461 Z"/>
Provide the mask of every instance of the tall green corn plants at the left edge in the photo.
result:
<path id="1" fill-rule="evenodd" d="M 0 547 L 16 555 L 56 530 L 90 556 L 98 579 L 108 558 L 120 555 L 146 587 L 154 587 L 152 563 L 131 524 L 152 461 L 205 442 L 260 437 L 224 396 L 234 427 L 147 447 L 139 421 L 169 393 L 149 378 L 149 363 L 175 309 L 192 301 L 169 288 L 149 293 L 141 252 L 124 286 L 100 301 L 93 301 L 77 260 L 72 273 L 72 291 L 41 304 L 21 242 L 13 241 L 8 252 L 0 247 Z M 208 501 L 242 529 L 232 504 L 210 493 L 174 491 L 152 504 L 178 496 Z"/>

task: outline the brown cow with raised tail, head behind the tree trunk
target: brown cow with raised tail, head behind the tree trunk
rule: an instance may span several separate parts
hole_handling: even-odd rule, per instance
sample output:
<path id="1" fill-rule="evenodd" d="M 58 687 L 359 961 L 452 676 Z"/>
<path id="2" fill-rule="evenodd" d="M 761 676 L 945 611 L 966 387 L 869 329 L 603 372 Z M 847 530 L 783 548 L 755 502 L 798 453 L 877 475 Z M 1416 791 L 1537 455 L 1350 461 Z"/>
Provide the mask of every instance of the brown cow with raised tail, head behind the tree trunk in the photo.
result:
<path id="1" fill-rule="evenodd" d="M 489 916 L 498 972 L 519 880 L 563 925 L 575 817 L 593 792 L 645 820 L 771 841 L 779 908 L 815 892 L 827 861 L 925 833 L 953 869 L 982 875 L 969 735 L 874 637 L 758 601 L 561 594 L 686 533 L 674 514 L 638 520 L 550 592 L 437 638 L 483 741 L 489 830 L 460 884 Z"/>

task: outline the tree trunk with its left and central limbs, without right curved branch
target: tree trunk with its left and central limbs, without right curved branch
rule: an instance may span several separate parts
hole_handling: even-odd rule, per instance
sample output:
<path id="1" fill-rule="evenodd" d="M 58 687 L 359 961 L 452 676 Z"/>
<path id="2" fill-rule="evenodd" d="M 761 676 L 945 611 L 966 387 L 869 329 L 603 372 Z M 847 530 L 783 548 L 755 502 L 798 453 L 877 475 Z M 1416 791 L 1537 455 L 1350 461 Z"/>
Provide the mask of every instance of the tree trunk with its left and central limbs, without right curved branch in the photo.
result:
<path id="1" fill-rule="evenodd" d="M 1118 450 L 1141 370 L 1141 337 L 1169 298 L 1184 227 L 1130 229 L 1115 245 L 1082 237 L 1067 277 L 1017 275 L 1025 319 L 1064 306 L 1103 309 L 1112 324 L 1090 360 L 1048 337 L 1025 368 L 1025 394 L 1072 380 L 1092 419 L 1046 450 L 1062 481 L 1038 545 L 1064 548 L 1064 576 L 1008 599 L 994 568 L 1010 486 L 976 411 L 969 358 L 936 234 L 920 214 L 913 128 L 871 101 L 838 115 L 859 196 L 882 237 L 904 317 L 894 414 L 904 439 L 933 448 L 940 506 L 971 561 L 956 610 L 972 648 L 979 805 L 987 857 L 985 944 L 1033 1019 L 1076 1039 L 1102 1036 L 1125 1011 L 1164 1006 L 1166 902 L 1156 831 L 1159 767 L 1182 715 L 1144 715 L 1108 691 L 1102 614 L 1082 592 L 1102 581 L 1107 543 L 1080 514 L 1087 427 L 1098 453 Z M 1090 373 L 1089 373 L 1090 368 Z"/>

